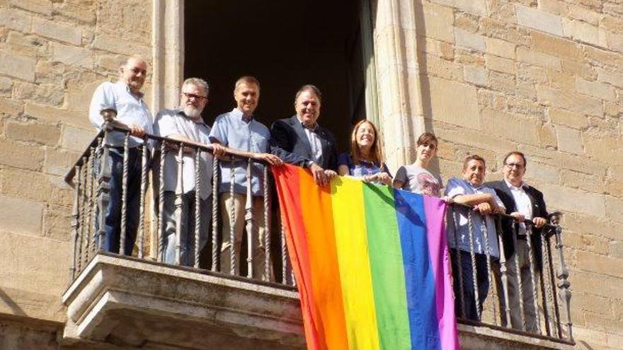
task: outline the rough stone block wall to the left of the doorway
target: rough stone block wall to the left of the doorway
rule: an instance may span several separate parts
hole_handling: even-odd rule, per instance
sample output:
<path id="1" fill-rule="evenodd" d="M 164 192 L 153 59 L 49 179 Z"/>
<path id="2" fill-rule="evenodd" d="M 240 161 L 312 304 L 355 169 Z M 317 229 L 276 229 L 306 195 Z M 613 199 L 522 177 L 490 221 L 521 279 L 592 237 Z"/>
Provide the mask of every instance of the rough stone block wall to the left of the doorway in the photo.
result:
<path id="1" fill-rule="evenodd" d="M 151 13 L 143 0 L 0 1 L 0 315 L 64 321 L 63 177 L 95 134 L 95 87 L 116 80 L 125 55 L 151 59 Z"/>

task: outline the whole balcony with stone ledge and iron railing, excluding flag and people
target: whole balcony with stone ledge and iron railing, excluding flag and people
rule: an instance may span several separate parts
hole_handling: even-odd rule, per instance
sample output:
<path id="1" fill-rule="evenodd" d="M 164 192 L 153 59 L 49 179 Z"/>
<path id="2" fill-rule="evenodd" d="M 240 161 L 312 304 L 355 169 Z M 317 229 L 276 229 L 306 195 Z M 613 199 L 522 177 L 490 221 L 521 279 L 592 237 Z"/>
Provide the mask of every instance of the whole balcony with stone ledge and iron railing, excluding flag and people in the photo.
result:
<path id="1" fill-rule="evenodd" d="M 283 233 L 278 229 L 278 215 L 272 213 L 275 209 L 271 210 L 268 191 L 263 193 L 263 215 L 270 222 L 273 214 L 275 220 L 267 225 L 265 242 L 272 244 L 264 245 L 265 259 L 262 263 L 263 271 L 272 273 L 253 276 L 256 257 L 253 250 L 244 247 L 246 244 L 248 248 L 251 244 L 248 237 L 243 243 L 242 256 L 236 256 L 234 250 L 233 256 L 229 256 L 234 262 L 230 265 L 231 269 L 221 271 L 223 258 L 217 247 L 229 233 L 222 232 L 218 205 L 212 206 L 212 218 L 215 220 L 212 221 L 211 231 L 216 234 L 210 235 L 205 249 L 200 251 L 200 247 L 188 247 L 195 254 L 190 262 L 184 262 L 181 254 L 183 243 L 177 235 L 175 261 L 167 264 L 162 238 L 164 199 L 161 194 L 164 177 L 157 167 L 149 169 L 148 148 L 139 146 L 144 156 L 141 161 L 142 196 L 135 247 L 132 255 L 122 254 L 123 249 L 119 249 L 121 254 L 101 249 L 103 218 L 98 213 L 103 212 L 110 201 L 111 176 L 105 166 L 110 150 L 103 146 L 103 139 L 105 133 L 113 131 L 126 132 L 125 129 L 109 127 L 98 134 L 66 177 L 66 181 L 74 187 L 74 252 L 69 268 L 72 284 L 62 298 L 67 306 L 67 325 L 62 342 L 88 346 L 89 349 L 109 349 L 111 344 L 122 349 L 305 349 L 296 282 L 288 266 Z M 153 147 L 156 155 L 152 163 L 161 166 L 164 165 L 164 157 L 161 156 L 168 152 L 176 152 L 178 159 L 184 159 L 183 152 L 192 148 L 198 159 L 198 153 L 211 151 L 205 146 L 181 144 L 157 136 L 148 135 L 146 139 L 151 139 L 156 145 Z M 170 145 L 177 147 L 170 148 Z M 127 154 L 127 142 L 125 147 Z M 247 180 L 250 180 L 253 173 L 252 161 L 245 158 L 248 155 L 228 151 L 230 161 L 236 158 L 248 162 L 246 171 Z M 176 166 L 183 171 L 183 161 L 178 161 Z M 266 170 L 264 174 L 267 174 Z M 150 175 L 152 182 L 156 182 L 152 199 L 149 199 L 147 191 Z M 195 178 L 201 180 L 201 177 L 200 172 L 195 173 Z M 268 188 L 266 178 L 263 177 L 264 188 Z M 179 179 L 181 177 L 178 177 L 181 182 Z M 215 192 L 219 181 L 218 175 L 215 175 L 212 184 Z M 176 188 L 179 198 L 181 183 Z M 178 218 L 181 216 L 181 203 L 176 202 Z M 217 204 L 217 201 L 213 203 Z M 127 203 L 122 201 L 122 206 L 127 208 Z M 246 231 L 251 231 L 250 202 L 246 203 L 245 212 Z M 538 332 L 526 332 L 505 325 L 503 314 L 508 315 L 510 310 L 500 301 L 508 297 L 491 288 L 486 303 L 479 310 L 479 321 L 467 320 L 457 314 L 462 349 L 573 348 L 571 315 L 568 313 L 571 293 L 568 291 L 568 272 L 562 255 L 562 231 L 555 225 L 556 218 L 553 223 L 547 234 L 542 236 L 544 267 L 537 284 L 540 288 L 533 291 L 538 310 Z M 124 226 L 119 248 L 125 246 L 127 233 Z M 199 238 L 199 235 L 198 229 L 195 230 L 195 237 Z M 181 266 L 183 264 L 190 266 Z M 240 275 L 234 274 L 235 264 L 241 265 Z M 501 266 L 505 266 L 504 261 L 501 261 Z M 501 279 L 508 279 L 504 268 L 499 271 Z M 493 279 L 491 264 L 488 264 L 487 274 L 490 280 Z M 532 275 L 535 275 L 534 271 Z"/>

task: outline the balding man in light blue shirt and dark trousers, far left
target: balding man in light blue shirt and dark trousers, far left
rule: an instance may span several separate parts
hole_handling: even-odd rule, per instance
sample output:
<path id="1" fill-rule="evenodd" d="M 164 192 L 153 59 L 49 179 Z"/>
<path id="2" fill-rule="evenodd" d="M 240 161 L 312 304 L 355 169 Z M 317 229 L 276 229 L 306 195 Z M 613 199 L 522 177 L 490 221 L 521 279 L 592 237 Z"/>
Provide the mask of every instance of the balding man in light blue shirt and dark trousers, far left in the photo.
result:
<path id="1" fill-rule="evenodd" d="M 141 182 L 141 151 L 139 145 L 143 143 L 141 136 L 144 133 L 152 134 L 152 114 L 143 99 L 141 88 L 147 76 L 147 62 L 137 56 L 132 56 L 119 68 L 119 81 L 105 82 L 96 88 L 88 110 L 88 119 L 99 130 L 103 127 L 102 111 L 114 110 L 116 117 L 113 124 L 128 127 L 132 136 L 128 140 L 130 151 L 128 158 L 127 176 L 127 222 L 125 247 L 122 254 L 132 255 L 139 221 L 139 200 Z M 122 204 L 122 175 L 123 175 L 123 144 L 125 134 L 122 132 L 108 132 L 104 143 L 109 146 L 110 158 L 105 163 L 110 166 L 110 202 L 104 211 L 105 235 L 101 249 L 106 252 L 120 251 L 120 227 Z M 100 233 L 96 233 L 99 235 Z M 96 242 L 99 242 L 96 237 Z"/>

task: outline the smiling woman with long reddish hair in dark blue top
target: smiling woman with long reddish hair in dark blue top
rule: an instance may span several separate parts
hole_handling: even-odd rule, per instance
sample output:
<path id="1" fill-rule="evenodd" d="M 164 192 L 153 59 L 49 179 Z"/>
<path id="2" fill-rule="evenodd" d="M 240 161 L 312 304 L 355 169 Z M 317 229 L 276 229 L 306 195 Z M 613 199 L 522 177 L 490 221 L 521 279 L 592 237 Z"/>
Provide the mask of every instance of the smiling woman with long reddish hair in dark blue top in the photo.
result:
<path id="1" fill-rule="evenodd" d="M 338 157 L 338 174 L 360 177 L 366 182 L 391 185 L 391 175 L 383 162 L 377 128 L 367 120 L 355 125 L 350 135 L 350 153 Z"/>

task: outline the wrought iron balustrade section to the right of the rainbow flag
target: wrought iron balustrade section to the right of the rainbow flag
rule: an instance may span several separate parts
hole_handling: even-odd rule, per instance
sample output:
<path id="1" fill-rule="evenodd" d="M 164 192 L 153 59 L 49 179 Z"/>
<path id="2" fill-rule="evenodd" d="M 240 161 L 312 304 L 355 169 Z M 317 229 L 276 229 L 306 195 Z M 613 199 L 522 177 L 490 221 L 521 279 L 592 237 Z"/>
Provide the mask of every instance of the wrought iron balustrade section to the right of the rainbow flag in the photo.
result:
<path id="1" fill-rule="evenodd" d="M 451 249 L 451 259 L 455 271 L 455 283 L 459 286 L 459 293 L 456 295 L 457 320 L 466 325 L 486 325 L 503 329 L 508 332 L 530 335 L 530 337 L 544 337 L 547 339 L 557 339 L 561 342 L 574 344 L 571 322 L 571 291 L 569 290 L 568 269 L 564 261 L 564 251 L 562 242 L 562 228 L 559 226 L 561 214 L 556 212 L 550 215 L 550 223 L 541 231 L 535 230 L 535 226 L 530 220 L 525 220 L 525 237 L 518 236 L 518 223 L 513 224 L 513 245 L 517 247 L 517 240 L 525 240 L 527 244 L 527 269 L 526 273 L 520 273 L 520 254 L 517 251 L 510 256 L 510 262 L 505 256 L 504 240 L 502 240 L 501 220 L 513 220 L 508 215 L 493 215 L 496 223 L 496 232 L 488 232 L 485 224 L 485 216 L 474 211 L 470 206 L 463 204 L 452 204 L 450 206 L 447 225 L 455 228 L 455 233 L 459 232 L 459 212 L 467 216 L 467 231 L 469 239 L 469 251 L 458 254 L 457 250 Z M 484 235 L 484 257 L 486 261 L 486 281 L 489 286 L 488 295 L 484 305 L 476 302 L 477 317 L 469 317 L 465 312 L 464 288 L 471 288 L 474 300 L 479 301 L 483 296 L 479 296 L 479 285 L 477 283 L 482 269 L 476 265 L 478 255 L 476 252 L 476 238 L 474 229 L 474 218 L 479 216 L 481 223 L 481 233 Z M 537 233 L 540 232 L 540 233 Z M 539 235 L 538 238 L 532 237 Z M 489 244 L 489 236 L 493 235 L 498 244 L 499 254 L 493 255 L 493 247 Z M 450 240 L 451 238 L 449 238 Z M 455 234 L 454 242 L 449 242 L 450 247 L 459 247 L 459 235 Z M 537 264 L 535 247 L 533 242 L 538 242 L 541 246 L 542 267 Z M 555 251 L 552 249 L 554 245 Z M 467 254 L 465 254 L 467 253 Z M 471 279 L 462 276 L 462 259 L 467 255 L 471 264 Z M 482 254 L 481 254 L 482 255 Z M 554 255 L 557 261 L 554 261 Z M 510 274 L 510 264 L 514 264 L 517 273 Z M 525 265 L 525 264 L 524 264 Z M 458 280 L 458 281 L 457 281 Z M 516 295 L 510 295 L 509 290 L 513 289 L 510 285 L 515 284 Z M 480 298 L 479 298 L 480 297 Z M 526 305 L 526 303 L 531 305 Z M 469 301 L 467 301 L 469 303 Z M 515 305 L 515 308 L 513 308 Z M 517 306 L 518 305 L 518 306 Z M 517 310 L 518 308 L 518 310 Z M 528 312 L 527 310 L 531 310 Z M 563 311 L 561 315 L 561 310 Z M 515 317 L 515 322 L 511 320 Z M 517 321 L 519 318 L 519 321 Z M 535 327 L 530 327 L 530 323 Z"/>

